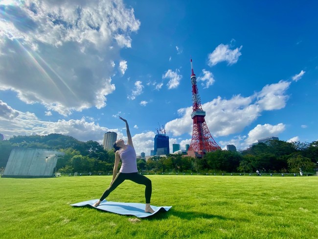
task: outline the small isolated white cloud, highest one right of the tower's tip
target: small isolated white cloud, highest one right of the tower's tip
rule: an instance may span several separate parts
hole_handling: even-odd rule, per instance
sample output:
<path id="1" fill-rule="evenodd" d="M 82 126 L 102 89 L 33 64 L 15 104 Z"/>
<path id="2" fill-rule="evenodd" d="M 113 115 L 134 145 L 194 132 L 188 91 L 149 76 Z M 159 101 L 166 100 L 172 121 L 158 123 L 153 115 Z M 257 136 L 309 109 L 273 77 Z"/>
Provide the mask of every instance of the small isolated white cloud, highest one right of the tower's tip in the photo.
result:
<path id="1" fill-rule="evenodd" d="M 214 66 L 222 61 L 226 61 L 228 65 L 236 63 L 239 56 L 242 55 L 240 52 L 242 47 L 231 50 L 229 45 L 220 44 L 208 55 L 208 65 Z"/>

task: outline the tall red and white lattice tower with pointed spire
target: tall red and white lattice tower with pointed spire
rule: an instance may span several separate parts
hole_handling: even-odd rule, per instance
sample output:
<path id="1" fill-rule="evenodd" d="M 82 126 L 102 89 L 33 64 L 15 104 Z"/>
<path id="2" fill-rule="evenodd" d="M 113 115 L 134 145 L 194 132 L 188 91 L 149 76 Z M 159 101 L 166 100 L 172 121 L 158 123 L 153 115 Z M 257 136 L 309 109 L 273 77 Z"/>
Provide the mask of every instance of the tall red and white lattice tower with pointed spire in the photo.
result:
<path id="1" fill-rule="evenodd" d="M 192 140 L 188 149 L 188 155 L 205 154 L 207 152 L 221 149 L 221 147 L 212 138 L 209 129 L 205 123 L 205 111 L 202 109 L 201 99 L 197 87 L 197 78 L 193 72 L 191 62 L 191 84 L 192 84 L 192 109 L 191 118 L 193 119 Z"/>

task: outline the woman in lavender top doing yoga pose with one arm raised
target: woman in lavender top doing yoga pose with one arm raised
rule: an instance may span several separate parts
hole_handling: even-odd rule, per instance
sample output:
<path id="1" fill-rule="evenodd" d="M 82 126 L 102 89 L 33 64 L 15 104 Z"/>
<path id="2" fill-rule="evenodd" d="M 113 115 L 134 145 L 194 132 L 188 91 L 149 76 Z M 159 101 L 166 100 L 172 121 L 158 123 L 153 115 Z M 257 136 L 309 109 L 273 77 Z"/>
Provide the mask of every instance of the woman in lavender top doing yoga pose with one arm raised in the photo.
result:
<path id="1" fill-rule="evenodd" d="M 93 207 L 98 207 L 98 205 L 112 192 L 115 188 L 118 187 L 119 184 L 124 182 L 126 179 L 131 180 L 137 184 L 142 184 L 146 186 L 145 189 L 145 198 L 146 198 L 146 213 L 154 213 L 154 210 L 150 207 L 150 199 L 151 199 L 151 180 L 143 175 L 138 174 L 137 169 L 137 159 L 136 159 L 136 151 L 133 145 L 132 136 L 129 131 L 128 122 L 126 119 L 119 117 L 119 119 L 123 120 L 126 123 L 127 144 L 123 140 L 117 140 L 114 143 L 115 149 L 115 163 L 113 170 L 113 180 L 111 185 L 106 191 L 104 191 L 101 198 L 94 203 Z M 121 160 L 121 167 L 119 173 L 117 174 L 119 160 Z"/>

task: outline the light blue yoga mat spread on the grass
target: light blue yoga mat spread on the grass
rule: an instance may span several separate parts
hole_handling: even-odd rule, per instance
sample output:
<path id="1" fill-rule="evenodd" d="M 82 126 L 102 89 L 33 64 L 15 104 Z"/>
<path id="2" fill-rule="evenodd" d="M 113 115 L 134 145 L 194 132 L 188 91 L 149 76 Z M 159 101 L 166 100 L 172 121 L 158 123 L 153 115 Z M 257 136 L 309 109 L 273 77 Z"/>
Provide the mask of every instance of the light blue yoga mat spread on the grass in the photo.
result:
<path id="1" fill-rule="evenodd" d="M 98 199 L 93 199 L 89 201 L 84 201 L 84 202 L 78 202 L 71 204 L 70 206 L 74 207 L 91 207 L 95 208 L 91 205 L 93 205 L 95 202 L 97 202 Z M 168 212 L 172 206 L 166 206 L 166 207 L 156 207 L 152 206 L 151 208 L 155 211 L 153 214 L 150 213 L 145 213 L 145 204 L 142 203 L 125 203 L 125 202 L 109 202 L 107 200 L 103 200 L 98 207 L 95 209 L 98 210 L 103 210 L 115 214 L 120 214 L 120 215 L 134 215 L 136 217 L 148 217 L 157 214 L 158 212 Z"/>

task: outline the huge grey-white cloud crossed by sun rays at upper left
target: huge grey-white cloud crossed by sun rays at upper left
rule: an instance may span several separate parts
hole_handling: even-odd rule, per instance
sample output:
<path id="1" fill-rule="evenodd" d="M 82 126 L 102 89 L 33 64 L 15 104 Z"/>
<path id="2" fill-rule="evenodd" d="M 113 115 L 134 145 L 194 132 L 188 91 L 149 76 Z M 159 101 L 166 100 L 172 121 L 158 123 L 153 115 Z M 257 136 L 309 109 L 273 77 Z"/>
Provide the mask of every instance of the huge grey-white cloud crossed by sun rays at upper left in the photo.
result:
<path id="1" fill-rule="evenodd" d="M 114 61 L 140 26 L 134 10 L 122 0 L 17 3 L 0 17 L 0 90 L 65 116 L 105 107 Z"/>

